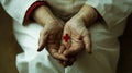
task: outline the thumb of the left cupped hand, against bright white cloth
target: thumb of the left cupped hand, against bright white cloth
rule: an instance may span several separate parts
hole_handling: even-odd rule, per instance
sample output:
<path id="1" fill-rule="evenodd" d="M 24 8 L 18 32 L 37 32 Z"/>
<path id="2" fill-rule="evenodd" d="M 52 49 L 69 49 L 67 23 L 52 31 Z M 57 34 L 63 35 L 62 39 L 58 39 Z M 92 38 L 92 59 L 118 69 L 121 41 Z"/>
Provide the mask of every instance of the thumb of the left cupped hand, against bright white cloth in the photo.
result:
<path id="1" fill-rule="evenodd" d="M 47 33 L 45 31 L 42 31 L 40 33 L 37 51 L 42 51 L 44 49 L 44 47 L 46 46 L 47 37 L 48 37 L 48 35 L 47 35 Z"/>

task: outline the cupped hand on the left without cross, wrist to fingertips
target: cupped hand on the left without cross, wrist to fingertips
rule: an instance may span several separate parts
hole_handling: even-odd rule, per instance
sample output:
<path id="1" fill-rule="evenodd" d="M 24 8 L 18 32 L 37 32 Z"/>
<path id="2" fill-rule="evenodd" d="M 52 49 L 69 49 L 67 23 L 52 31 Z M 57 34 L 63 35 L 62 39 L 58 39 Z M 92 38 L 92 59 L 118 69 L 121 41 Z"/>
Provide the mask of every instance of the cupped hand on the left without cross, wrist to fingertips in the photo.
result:
<path id="1" fill-rule="evenodd" d="M 46 50 L 53 58 L 57 60 L 66 60 L 66 57 L 58 52 L 62 33 L 63 25 L 58 21 L 47 23 L 41 31 L 38 40 L 40 47 L 37 51 L 42 51 L 44 47 L 46 47 Z"/>

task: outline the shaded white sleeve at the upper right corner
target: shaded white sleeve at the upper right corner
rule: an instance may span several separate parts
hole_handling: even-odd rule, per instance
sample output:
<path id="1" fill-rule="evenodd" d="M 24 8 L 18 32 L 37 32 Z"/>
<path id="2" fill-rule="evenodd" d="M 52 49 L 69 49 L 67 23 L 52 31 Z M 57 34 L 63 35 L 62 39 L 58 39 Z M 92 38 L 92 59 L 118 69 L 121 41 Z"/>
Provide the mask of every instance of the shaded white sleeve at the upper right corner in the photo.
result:
<path id="1" fill-rule="evenodd" d="M 119 24 L 132 12 L 132 0 L 87 0 L 103 17 L 108 26 Z"/>

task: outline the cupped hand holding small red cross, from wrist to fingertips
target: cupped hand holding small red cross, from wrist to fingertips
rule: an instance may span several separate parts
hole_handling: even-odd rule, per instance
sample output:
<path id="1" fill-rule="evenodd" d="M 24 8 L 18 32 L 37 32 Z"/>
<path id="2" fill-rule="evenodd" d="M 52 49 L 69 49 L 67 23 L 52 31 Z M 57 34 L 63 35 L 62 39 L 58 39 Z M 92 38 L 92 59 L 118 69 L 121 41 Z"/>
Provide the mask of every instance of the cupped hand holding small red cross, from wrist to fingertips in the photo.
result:
<path id="1" fill-rule="evenodd" d="M 76 56 L 84 49 L 91 53 L 89 31 L 81 19 L 73 17 L 64 27 L 59 53 L 66 56 L 68 61 L 62 63 L 64 65 L 72 65 L 76 60 Z"/>

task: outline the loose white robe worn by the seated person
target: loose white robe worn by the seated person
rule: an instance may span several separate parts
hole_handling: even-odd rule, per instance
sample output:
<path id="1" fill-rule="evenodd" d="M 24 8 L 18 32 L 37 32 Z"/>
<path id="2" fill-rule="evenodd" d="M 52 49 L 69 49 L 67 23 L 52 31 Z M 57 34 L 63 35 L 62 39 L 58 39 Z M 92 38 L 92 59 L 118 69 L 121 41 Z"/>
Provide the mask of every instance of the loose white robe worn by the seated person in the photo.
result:
<path id="1" fill-rule="evenodd" d="M 30 23 L 23 26 L 26 10 L 37 0 L 0 0 L 14 20 L 14 35 L 23 52 L 16 56 L 20 73 L 116 73 L 120 45 L 132 0 L 45 0 L 53 13 L 69 20 L 82 4 L 94 7 L 106 23 L 97 22 L 88 29 L 91 33 L 92 54 L 81 52 L 74 65 L 64 69 L 46 50 L 37 52 L 42 26 Z"/>

